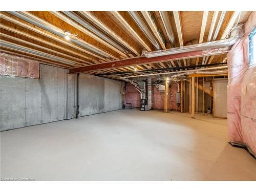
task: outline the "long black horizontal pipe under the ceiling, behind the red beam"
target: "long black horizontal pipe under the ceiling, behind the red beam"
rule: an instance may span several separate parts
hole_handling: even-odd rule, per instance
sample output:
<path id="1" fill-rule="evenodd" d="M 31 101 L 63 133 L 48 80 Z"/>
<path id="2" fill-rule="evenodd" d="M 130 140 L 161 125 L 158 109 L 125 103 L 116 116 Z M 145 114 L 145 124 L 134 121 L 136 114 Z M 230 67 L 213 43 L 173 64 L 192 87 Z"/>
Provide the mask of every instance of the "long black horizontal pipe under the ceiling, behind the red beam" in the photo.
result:
<path id="1" fill-rule="evenodd" d="M 138 73 L 151 73 L 151 72 L 162 72 L 162 71 L 170 71 L 170 70 L 179 70 L 179 69 L 190 69 L 190 68 L 200 68 L 200 67 L 211 67 L 211 66 L 220 66 L 226 65 L 227 63 L 213 63 L 207 65 L 198 65 L 198 66 L 181 66 L 181 67 L 172 67 L 172 68 L 160 68 L 160 69 L 149 69 L 143 71 L 124 71 L 124 72 L 114 72 L 114 73 L 101 73 L 97 74 L 96 76 L 105 76 L 105 75 L 125 75 L 125 74 L 138 74 Z M 156 74 L 157 75 L 157 74 Z"/>

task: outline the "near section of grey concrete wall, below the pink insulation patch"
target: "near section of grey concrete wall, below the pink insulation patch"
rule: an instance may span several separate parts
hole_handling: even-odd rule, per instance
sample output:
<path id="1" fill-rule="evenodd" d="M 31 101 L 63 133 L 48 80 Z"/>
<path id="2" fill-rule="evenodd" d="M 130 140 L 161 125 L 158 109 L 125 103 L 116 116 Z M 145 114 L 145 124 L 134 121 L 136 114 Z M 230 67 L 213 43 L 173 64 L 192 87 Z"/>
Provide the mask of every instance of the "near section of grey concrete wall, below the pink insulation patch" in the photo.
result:
<path id="1" fill-rule="evenodd" d="M 67 73 L 41 65 L 40 79 L 0 76 L 1 131 L 66 119 Z"/>

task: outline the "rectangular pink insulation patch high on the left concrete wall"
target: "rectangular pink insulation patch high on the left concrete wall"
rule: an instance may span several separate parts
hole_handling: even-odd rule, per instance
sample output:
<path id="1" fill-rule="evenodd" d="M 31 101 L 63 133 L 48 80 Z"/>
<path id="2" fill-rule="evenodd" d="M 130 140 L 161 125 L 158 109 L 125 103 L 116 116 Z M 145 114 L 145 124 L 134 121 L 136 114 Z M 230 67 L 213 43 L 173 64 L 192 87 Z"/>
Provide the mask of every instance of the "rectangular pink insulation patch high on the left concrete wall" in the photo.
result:
<path id="1" fill-rule="evenodd" d="M 23 57 L 1 53 L 0 74 L 13 77 L 30 77 L 38 79 L 39 62 Z"/>

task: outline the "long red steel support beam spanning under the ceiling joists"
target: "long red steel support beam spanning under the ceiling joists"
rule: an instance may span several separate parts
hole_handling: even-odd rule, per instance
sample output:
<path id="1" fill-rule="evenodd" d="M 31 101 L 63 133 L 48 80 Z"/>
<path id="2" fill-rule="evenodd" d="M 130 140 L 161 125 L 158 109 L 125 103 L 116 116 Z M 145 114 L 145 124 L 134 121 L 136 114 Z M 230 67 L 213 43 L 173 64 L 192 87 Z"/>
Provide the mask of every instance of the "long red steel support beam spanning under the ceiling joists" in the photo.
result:
<path id="1" fill-rule="evenodd" d="M 169 60 L 177 60 L 177 59 L 183 59 L 183 58 L 193 58 L 198 56 L 222 54 L 222 53 L 227 53 L 228 51 L 229 51 L 229 48 L 221 48 L 221 49 L 210 49 L 207 51 L 199 50 L 199 51 L 191 51 L 186 53 L 176 53 L 172 55 L 163 55 L 163 56 L 151 57 L 151 58 L 147 58 L 143 56 L 133 57 L 129 59 L 102 62 L 95 65 L 73 68 L 70 70 L 70 73 L 72 74 L 72 73 L 95 71 L 95 70 L 101 70 L 101 69 L 112 69 L 112 68 L 118 68 L 118 67 L 136 66 L 136 65 L 150 64 L 150 63 L 156 63 L 156 62 L 165 62 Z"/>

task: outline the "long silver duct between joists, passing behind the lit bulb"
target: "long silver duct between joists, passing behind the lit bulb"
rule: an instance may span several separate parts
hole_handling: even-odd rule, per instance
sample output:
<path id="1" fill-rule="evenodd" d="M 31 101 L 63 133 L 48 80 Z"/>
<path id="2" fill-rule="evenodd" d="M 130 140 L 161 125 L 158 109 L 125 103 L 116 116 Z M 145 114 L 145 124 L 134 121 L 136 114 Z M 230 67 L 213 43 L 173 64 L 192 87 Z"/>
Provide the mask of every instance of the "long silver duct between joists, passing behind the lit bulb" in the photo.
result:
<path id="1" fill-rule="evenodd" d="M 66 36 L 66 35 L 64 34 L 64 32 L 63 32 L 63 33 L 58 32 L 58 31 L 56 31 L 56 30 L 54 30 L 54 29 L 52 29 L 52 28 L 50 28 L 50 27 L 48 27 L 48 26 L 45 26 L 44 24 L 41 24 L 41 23 L 37 22 L 36 20 L 34 20 L 34 19 L 32 19 L 32 18 L 29 18 L 29 17 L 26 16 L 26 15 L 23 15 L 22 13 L 19 13 L 19 12 L 17 12 L 17 11 L 7 11 L 7 12 L 10 13 L 10 14 L 12 14 L 12 15 L 14 15 L 14 16 L 16 16 L 16 17 L 19 17 L 19 18 L 21 18 L 21 19 L 23 19 L 23 20 L 26 20 L 26 22 L 28 22 L 28 23 L 31 23 L 31 24 L 36 25 L 36 26 L 38 26 L 38 27 L 40 27 L 40 28 L 42 28 L 42 29 L 44 29 L 44 30 L 46 30 L 46 31 L 49 31 L 49 32 L 51 32 L 51 33 L 53 33 L 53 34 L 55 34 L 55 35 L 58 35 L 58 36 L 60 36 L 60 37 L 62 37 L 62 38 L 65 38 L 65 36 Z M 88 45 L 82 44 L 81 42 L 79 42 L 79 41 L 76 40 L 76 39 L 70 38 L 70 41 L 73 42 L 73 43 L 76 44 L 76 45 L 79 45 L 79 46 L 85 48 L 85 49 L 88 49 L 88 50 L 90 50 L 90 51 L 93 51 L 93 52 L 95 52 L 95 53 L 97 53 L 97 54 L 99 54 L 99 55 L 101 55 L 101 56 L 103 56 L 103 57 L 110 58 L 108 55 L 105 55 L 105 54 L 101 53 L 100 51 L 95 50 L 94 48 L 92 48 L 92 47 L 90 47 L 90 46 L 88 46 Z"/>

